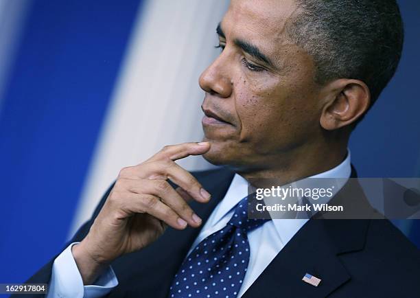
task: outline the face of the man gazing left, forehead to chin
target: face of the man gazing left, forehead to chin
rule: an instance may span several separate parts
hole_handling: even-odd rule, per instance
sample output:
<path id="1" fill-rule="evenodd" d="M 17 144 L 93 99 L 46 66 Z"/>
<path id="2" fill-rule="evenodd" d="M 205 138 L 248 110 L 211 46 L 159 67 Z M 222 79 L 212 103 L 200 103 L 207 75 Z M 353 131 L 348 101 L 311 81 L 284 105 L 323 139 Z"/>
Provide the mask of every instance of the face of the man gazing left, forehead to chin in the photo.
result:
<path id="1" fill-rule="evenodd" d="M 200 76 L 211 163 L 275 167 L 319 137 L 314 63 L 284 32 L 295 10 L 294 0 L 231 1 L 218 27 L 221 54 Z"/>

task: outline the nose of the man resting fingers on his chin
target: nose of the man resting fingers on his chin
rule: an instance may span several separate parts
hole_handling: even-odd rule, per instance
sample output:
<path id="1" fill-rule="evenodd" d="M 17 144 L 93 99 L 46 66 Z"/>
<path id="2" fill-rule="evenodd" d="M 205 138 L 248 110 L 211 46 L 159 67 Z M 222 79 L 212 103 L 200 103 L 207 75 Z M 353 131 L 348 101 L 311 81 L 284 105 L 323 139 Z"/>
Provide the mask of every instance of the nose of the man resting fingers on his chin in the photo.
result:
<path id="1" fill-rule="evenodd" d="M 199 84 L 202 90 L 221 98 L 229 98 L 232 93 L 232 78 L 229 71 L 229 56 L 224 51 L 205 71 L 201 73 Z"/>

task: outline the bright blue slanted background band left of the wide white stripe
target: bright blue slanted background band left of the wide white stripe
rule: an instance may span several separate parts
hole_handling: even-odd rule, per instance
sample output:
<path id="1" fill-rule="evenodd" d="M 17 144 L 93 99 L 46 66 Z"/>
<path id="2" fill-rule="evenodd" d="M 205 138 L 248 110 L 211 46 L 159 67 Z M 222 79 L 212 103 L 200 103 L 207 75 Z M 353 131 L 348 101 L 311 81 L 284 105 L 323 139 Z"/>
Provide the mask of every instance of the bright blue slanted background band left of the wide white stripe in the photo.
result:
<path id="1" fill-rule="evenodd" d="M 1 282 L 65 243 L 139 4 L 32 1 L 0 114 Z"/>

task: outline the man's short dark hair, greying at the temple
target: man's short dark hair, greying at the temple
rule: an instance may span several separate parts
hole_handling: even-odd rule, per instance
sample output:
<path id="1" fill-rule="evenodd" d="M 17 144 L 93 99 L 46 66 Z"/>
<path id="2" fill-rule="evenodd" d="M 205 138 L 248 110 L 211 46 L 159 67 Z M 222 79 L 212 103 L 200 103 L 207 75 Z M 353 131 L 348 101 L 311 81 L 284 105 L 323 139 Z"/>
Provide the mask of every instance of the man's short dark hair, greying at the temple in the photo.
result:
<path id="1" fill-rule="evenodd" d="M 292 42 L 314 58 L 316 82 L 362 80 L 375 102 L 394 76 L 404 43 L 395 0 L 296 0 L 286 25 Z"/>

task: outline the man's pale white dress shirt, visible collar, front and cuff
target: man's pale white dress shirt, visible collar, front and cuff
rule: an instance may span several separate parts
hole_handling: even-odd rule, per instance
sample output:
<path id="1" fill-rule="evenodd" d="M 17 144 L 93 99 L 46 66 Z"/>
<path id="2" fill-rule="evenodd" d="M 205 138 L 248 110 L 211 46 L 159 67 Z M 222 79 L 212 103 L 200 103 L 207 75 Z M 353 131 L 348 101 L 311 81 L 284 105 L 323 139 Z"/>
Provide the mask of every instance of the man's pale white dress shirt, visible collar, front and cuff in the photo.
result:
<path id="1" fill-rule="evenodd" d="M 336 168 L 316 174 L 310 178 L 349 179 L 350 175 L 350 151 L 348 151 L 345 161 L 342 161 Z M 342 185 L 344 183 L 335 187 L 334 194 L 340 190 Z M 190 251 L 204 238 L 224 228 L 233 216 L 233 207 L 247 195 L 248 182 L 242 176 L 235 174 L 229 190 L 226 192 L 223 200 L 215 207 L 204 227 L 202 227 Z M 268 264 L 306 222 L 307 219 L 273 219 L 248 233 L 250 260 L 238 297 L 241 297 L 255 282 Z M 70 244 L 54 261 L 47 298 L 103 297 L 117 286 L 117 277 L 111 267 L 97 279 L 95 285 L 83 286 L 82 277 L 71 254 L 71 247 L 75 243 Z"/>

